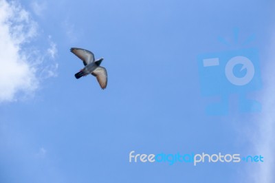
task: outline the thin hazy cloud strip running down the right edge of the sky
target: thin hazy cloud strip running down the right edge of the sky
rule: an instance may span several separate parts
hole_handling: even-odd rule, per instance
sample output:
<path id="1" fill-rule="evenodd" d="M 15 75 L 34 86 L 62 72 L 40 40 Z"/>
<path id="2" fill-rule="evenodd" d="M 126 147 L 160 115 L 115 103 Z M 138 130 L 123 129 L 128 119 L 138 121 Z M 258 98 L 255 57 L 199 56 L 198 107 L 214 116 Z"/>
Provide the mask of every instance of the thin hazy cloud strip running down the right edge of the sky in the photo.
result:
<path id="1" fill-rule="evenodd" d="M 263 84 L 264 92 L 262 96 L 263 112 L 255 120 L 256 130 L 252 136 L 254 151 L 258 155 L 264 156 L 263 164 L 250 167 L 251 182 L 275 182 L 275 34 L 271 38 L 269 56 L 264 63 Z"/>

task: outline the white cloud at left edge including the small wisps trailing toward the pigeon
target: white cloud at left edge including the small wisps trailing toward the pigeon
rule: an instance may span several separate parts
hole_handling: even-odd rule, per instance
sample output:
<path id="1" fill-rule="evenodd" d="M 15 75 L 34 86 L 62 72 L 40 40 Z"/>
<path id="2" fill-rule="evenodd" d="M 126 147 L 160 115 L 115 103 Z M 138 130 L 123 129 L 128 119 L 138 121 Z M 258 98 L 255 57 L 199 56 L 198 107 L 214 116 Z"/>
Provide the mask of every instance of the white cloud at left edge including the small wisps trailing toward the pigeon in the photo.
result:
<path id="1" fill-rule="evenodd" d="M 45 56 L 36 48 L 25 45 L 37 36 L 38 25 L 19 3 L 0 0 L 0 103 L 17 100 L 18 94 L 28 96 L 39 87 L 41 69 L 54 72 L 57 64 L 45 65 Z M 50 56 L 56 56 L 51 41 Z M 37 53 L 37 54 L 35 54 Z M 52 66 L 56 65 L 56 66 Z M 45 72 L 46 73 L 46 72 Z M 53 76 L 53 74 L 50 74 Z"/>

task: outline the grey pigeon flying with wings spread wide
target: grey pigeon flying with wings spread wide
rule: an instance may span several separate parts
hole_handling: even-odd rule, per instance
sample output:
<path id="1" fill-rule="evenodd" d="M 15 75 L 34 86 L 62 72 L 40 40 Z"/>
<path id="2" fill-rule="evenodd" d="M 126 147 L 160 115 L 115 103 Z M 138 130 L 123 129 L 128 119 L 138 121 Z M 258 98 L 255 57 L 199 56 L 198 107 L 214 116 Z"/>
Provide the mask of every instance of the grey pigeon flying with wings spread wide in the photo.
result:
<path id="1" fill-rule="evenodd" d="M 107 87 L 107 70 L 100 66 L 103 58 L 95 60 L 94 54 L 92 52 L 78 47 L 72 47 L 71 52 L 78 56 L 78 58 L 80 58 L 85 65 L 85 67 L 80 69 L 80 72 L 74 74 L 74 76 L 77 79 L 81 78 L 82 76 L 87 76 L 88 74 L 96 76 L 100 87 L 105 89 Z"/>

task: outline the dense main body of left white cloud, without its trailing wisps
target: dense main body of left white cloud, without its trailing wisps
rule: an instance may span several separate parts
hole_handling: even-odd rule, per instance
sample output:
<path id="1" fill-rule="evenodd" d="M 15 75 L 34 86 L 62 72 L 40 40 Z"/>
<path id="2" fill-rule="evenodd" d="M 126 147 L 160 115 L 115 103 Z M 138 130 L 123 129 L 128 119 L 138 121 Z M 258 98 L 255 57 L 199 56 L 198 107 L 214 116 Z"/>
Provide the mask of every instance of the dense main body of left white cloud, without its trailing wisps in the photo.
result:
<path id="1" fill-rule="evenodd" d="M 38 87 L 35 68 L 25 60 L 21 45 L 36 35 L 36 23 L 18 4 L 0 1 L 0 102 Z"/>

